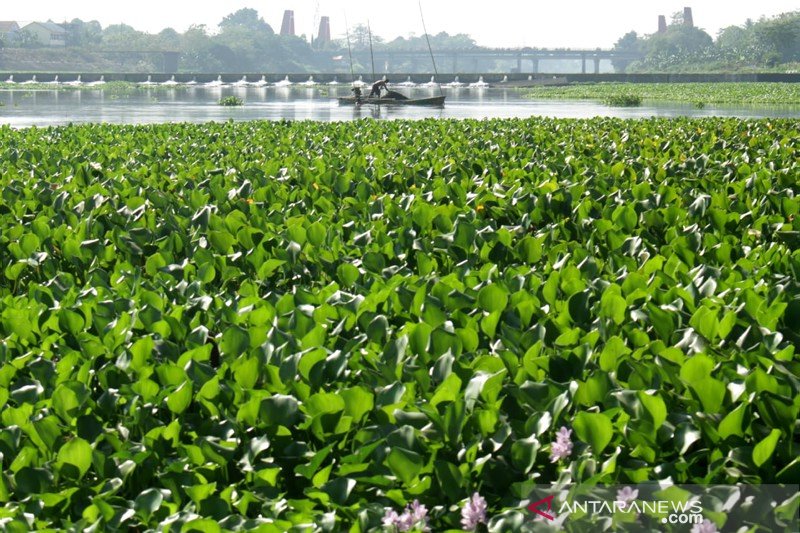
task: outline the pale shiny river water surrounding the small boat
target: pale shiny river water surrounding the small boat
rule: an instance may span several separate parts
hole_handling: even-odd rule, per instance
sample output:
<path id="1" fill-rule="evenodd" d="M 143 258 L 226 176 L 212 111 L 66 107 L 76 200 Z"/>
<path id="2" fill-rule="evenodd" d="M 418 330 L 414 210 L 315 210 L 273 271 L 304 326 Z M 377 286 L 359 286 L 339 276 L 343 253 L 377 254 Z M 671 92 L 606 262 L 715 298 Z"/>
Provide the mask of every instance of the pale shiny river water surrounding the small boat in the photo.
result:
<path id="1" fill-rule="evenodd" d="M 350 85 L 276 87 L 197 84 L 165 88 L 158 84 L 133 90 L 0 91 L 0 124 L 14 127 L 50 126 L 78 122 L 158 123 L 233 120 L 342 121 L 362 118 L 511 118 L 550 116 L 622 118 L 676 116 L 800 117 L 800 106 L 715 106 L 696 109 L 691 104 L 659 103 L 638 108 L 612 108 L 598 102 L 528 100 L 510 88 L 401 87 L 409 97 L 447 96 L 444 108 L 413 106 L 339 106 L 339 96 L 350 95 Z M 218 105 L 235 95 L 243 107 Z"/>

